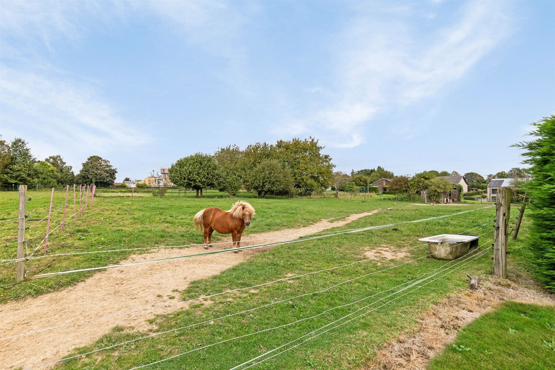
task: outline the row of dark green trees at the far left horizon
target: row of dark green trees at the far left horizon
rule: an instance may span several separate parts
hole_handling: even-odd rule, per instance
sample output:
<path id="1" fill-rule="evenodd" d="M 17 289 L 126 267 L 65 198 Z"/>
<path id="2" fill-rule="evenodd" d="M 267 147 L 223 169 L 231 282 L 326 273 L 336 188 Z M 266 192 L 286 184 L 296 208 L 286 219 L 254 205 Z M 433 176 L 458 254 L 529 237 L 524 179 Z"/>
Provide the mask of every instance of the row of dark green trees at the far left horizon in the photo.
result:
<path id="1" fill-rule="evenodd" d="M 38 160 L 31 154 L 27 141 L 15 138 L 7 142 L 0 136 L 0 184 L 67 185 L 95 184 L 99 187 L 112 186 L 117 169 L 110 161 L 92 155 L 82 163 L 75 175 L 72 166 L 61 155 L 51 155 Z"/>

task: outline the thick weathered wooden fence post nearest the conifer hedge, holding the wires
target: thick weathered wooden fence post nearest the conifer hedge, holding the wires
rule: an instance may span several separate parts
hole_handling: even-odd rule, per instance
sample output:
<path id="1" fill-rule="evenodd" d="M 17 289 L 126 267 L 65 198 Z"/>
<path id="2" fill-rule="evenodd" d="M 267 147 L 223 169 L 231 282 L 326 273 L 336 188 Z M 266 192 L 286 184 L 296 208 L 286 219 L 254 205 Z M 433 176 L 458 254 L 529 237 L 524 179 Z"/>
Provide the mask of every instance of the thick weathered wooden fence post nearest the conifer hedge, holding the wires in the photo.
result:
<path id="1" fill-rule="evenodd" d="M 493 242 L 493 275 L 507 277 L 507 240 L 511 216 L 511 188 L 497 188 L 495 241 Z"/>

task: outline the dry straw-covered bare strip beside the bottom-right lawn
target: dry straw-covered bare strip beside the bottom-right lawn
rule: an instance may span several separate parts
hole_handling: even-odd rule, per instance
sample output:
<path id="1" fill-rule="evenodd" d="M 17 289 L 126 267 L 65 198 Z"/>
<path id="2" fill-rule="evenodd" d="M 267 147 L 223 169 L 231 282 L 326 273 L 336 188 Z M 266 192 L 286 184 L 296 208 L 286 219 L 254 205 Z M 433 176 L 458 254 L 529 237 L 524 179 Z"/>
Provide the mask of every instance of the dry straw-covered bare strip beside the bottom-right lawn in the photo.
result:
<path id="1" fill-rule="evenodd" d="M 504 300 L 555 306 L 555 296 L 509 280 L 481 281 L 476 291 L 446 298 L 418 320 L 415 331 L 387 343 L 365 370 L 425 370 L 433 356 L 455 340 L 459 328 L 495 310 Z"/>

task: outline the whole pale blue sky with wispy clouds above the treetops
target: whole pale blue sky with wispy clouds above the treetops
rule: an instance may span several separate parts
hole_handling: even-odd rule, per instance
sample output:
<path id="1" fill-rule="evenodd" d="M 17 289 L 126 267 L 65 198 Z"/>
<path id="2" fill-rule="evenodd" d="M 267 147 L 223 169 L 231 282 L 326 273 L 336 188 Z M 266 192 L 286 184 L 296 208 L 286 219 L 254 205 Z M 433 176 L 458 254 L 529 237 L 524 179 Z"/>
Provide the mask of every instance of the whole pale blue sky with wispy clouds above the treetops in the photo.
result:
<path id="1" fill-rule="evenodd" d="M 555 2 L 0 3 L 0 133 L 125 176 L 315 136 L 337 170 L 519 166 Z"/>

